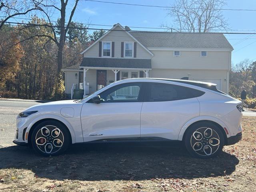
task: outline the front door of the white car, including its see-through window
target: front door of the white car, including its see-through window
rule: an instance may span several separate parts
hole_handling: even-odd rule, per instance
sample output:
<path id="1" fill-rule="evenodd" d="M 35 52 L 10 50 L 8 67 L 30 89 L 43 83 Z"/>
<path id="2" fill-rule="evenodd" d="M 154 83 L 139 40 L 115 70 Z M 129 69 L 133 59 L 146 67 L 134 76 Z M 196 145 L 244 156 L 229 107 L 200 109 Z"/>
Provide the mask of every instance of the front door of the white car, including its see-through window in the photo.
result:
<path id="1" fill-rule="evenodd" d="M 84 103 L 81 123 L 84 142 L 140 140 L 142 83 L 123 83 L 100 93 L 101 103 Z"/>

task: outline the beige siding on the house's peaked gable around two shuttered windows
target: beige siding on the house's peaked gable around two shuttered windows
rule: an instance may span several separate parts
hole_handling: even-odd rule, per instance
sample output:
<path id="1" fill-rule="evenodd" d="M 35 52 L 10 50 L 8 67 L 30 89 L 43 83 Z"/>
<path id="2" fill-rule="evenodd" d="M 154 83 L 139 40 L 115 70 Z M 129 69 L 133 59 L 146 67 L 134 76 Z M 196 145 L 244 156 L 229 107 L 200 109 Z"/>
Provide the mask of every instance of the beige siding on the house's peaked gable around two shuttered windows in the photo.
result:
<path id="1" fill-rule="evenodd" d="M 115 30 L 122 30 L 120 27 L 116 27 Z M 115 42 L 114 48 L 114 57 L 121 58 L 121 42 L 135 42 L 133 38 L 131 38 L 124 31 L 111 31 L 100 41 L 111 41 Z M 94 46 L 92 46 L 88 51 L 84 53 L 84 57 L 98 57 L 99 56 L 99 42 L 97 42 Z M 140 44 L 137 43 L 136 50 L 136 58 L 137 59 L 151 59 L 152 55 L 149 54 Z"/>

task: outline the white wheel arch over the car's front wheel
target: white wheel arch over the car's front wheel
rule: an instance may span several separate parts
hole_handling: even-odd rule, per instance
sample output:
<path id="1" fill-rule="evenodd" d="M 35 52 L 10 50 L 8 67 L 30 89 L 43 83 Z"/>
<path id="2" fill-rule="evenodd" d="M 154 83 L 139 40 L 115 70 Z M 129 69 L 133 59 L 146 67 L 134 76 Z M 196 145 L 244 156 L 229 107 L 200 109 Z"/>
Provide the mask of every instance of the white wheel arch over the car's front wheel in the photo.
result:
<path id="1" fill-rule="evenodd" d="M 41 122 L 44 122 L 44 121 L 47 121 L 47 120 L 53 120 L 53 121 L 56 121 L 56 122 L 59 122 L 61 123 L 65 128 L 67 128 L 68 130 L 68 133 L 70 134 L 70 140 L 71 140 L 71 143 L 75 143 L 76 142 L 76 136 L 75 136 L 75 133 L 74 133 L 74 130 L 72 128 L 72 126 L 64 119 L 60 118 L 57 116 L 56 117 L 42 117 L 41 118 L 37 118 L 35 120 L 33 120 L 30 125 L 28 126 L 26 132 L 28 132 L 28 143 L 30 144 L 31 142 L 31 135 L 32 135 L 32 132 L 34 130 L 34 128 L 40 124 Z"/>

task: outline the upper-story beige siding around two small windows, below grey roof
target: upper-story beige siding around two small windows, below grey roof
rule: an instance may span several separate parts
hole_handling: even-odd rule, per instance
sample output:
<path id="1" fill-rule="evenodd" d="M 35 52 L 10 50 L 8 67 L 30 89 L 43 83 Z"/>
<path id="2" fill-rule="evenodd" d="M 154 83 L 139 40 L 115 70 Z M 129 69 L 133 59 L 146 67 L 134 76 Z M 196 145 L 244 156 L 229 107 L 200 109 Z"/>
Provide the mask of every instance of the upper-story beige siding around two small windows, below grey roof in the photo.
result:
<path id="1" fill-rule="evenodd" d="M 229 51 L 208 51 L 207 57 L 201 57 L 200 51 L 182 51 L 179 57 L 172 52 L 152 51 L 152 68 L 229 70 Z"/>

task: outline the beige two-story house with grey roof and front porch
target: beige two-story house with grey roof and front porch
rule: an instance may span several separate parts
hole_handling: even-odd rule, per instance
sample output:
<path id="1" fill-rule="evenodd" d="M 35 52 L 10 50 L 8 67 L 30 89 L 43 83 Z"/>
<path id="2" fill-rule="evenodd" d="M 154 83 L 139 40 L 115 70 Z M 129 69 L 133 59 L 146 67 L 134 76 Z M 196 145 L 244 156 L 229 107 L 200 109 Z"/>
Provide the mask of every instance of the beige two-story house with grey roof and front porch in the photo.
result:
<path id="1" fill-rule="evenodd" d="M 186 78 L 217 84 L 228 93 L 231 52 L 223 34 L 135 32 L 115 24 L 90 45 L 81 64 L 63 69 L 65 93 L 84 96 L 126 78 Z"/>

